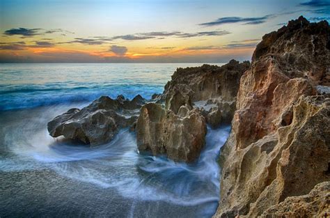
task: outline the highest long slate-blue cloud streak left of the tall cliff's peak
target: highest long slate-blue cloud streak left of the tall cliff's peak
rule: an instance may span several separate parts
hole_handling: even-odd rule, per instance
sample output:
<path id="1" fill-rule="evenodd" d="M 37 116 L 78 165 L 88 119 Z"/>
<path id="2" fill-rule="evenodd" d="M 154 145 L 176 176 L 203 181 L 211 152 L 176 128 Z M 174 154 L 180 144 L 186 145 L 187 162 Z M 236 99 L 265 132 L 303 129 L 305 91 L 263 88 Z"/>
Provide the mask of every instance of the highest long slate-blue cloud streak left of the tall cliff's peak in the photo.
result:
<path id="1" fill-rule="evenodd" d="M 267 22 L 267 20 L 276 17 L 275 15 L 266 15 L 263 17 L 220 17 L 213 22 L 205 22 L 199 24 L 200 26 L 219 26 L 222 24 L 235 24 L 235 23 L 243 23 L 243 24 L 262 24 Z"/>

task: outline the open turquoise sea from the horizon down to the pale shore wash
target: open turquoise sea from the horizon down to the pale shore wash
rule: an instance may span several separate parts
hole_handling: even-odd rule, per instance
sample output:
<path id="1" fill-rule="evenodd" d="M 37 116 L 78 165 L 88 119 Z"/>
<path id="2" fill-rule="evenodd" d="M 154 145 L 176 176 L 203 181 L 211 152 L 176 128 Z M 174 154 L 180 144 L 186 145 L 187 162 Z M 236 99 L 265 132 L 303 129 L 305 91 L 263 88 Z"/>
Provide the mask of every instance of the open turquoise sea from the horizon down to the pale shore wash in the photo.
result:
<path id="1" fill-rule="evenodd" d="M 220 63 L 221 64 L 221 63 Z M 1 63 L 0 111 L 162 93 L 178 67 L 200 63 Z"/>

